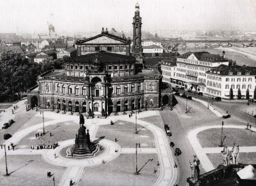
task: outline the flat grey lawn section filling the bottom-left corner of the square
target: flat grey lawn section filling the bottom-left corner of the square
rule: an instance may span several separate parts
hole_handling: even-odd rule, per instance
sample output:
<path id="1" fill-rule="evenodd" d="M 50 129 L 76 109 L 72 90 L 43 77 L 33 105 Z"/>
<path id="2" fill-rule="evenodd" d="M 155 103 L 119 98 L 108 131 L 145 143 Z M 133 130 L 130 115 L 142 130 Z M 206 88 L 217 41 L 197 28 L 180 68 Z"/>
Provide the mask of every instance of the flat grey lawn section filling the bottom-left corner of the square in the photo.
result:
<path id="1" fill-rule="evenodd" d="M 50 186 L 53 185 L 53 176 L 57 186 L 66 170 L 66 167 L 46 163 L 41 155 L 9 155 L 7 166 L 10 175 L 6 177 L 4 176 L 6 164 L 3 157 L 0 160 L 1 186 Z M 48 178 L 47 171 L 50 171 L 53 176 Z"/>

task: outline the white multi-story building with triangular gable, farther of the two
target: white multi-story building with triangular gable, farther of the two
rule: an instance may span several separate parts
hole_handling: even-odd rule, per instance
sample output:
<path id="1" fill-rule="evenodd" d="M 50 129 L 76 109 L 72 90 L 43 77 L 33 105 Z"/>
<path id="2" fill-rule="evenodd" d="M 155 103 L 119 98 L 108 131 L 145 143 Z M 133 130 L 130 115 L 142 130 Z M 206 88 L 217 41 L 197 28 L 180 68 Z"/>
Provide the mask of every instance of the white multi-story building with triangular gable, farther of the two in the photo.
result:
<path id="1" fill-rule="evenodd" d="M 170 77 L 171 83 L 197 90 L 198 83 L 206 84 L 206 72 L 214 67 L 228 65 L 224 55 L 219 56 L 209 52 L 186 52 L 177 56 L 176 76 Z"/>

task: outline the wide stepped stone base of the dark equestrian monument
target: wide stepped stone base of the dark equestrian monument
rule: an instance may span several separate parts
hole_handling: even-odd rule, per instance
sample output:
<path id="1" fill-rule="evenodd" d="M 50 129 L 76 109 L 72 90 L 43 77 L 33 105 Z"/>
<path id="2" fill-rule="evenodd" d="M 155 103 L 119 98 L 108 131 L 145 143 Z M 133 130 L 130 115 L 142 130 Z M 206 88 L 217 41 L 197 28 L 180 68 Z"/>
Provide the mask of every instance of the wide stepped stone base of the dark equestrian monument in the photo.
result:
<path id="1" fill-rule="evenodd" d="M 72 153 L 71 153 L 72 151 Z M 88 157 L 88 156 L 95 156 L 95 154 L 99 151 L 99 148 L 95 145 L 91 145 L 90 147 L 72 145 L 70 148 L 67 149 L 67 157 Z"/>

